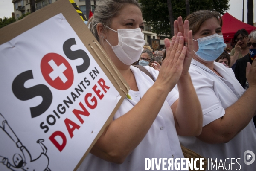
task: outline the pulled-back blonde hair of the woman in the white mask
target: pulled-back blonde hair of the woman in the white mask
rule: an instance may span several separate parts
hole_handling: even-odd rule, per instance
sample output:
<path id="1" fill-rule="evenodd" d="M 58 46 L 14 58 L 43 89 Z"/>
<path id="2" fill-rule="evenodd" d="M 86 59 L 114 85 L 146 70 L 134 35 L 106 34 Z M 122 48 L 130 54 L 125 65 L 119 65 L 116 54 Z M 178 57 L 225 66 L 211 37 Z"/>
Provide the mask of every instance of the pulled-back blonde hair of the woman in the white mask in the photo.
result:
<path id="1" fill-rule="evenodd" d="M 136 0 L 102 0 L 94 11 L 93 17 L 87 23 L 94 37 L 99 41 L 97 33 L 97 24 L 111 27 L 112 18 L 119 14 L 119 11 L 126 5 L 132 4 L 141 10 L 141 6 Z M 105 31 L 106 27 L 103 29 Z"/>

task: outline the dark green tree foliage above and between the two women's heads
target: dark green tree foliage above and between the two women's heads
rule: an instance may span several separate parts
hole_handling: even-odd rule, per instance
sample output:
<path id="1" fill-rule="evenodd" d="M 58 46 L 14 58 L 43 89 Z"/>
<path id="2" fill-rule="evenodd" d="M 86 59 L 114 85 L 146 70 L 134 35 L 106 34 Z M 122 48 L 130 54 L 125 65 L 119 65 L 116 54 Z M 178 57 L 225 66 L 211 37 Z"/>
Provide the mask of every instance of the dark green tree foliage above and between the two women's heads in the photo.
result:
<path id="1" fill-rule="evenodd" d="M 151 32 L 158 35 L 170 35 L 171 27 L 166 0 L 139 0 L 143 19 L 151 25 Z M 229 0 L 189 0 L 190 13 L 198 10 L 218 11 L 224 14 L 230 7 Z M 172 0 L 174 19 L 186 17 L 186 0 Z"/>

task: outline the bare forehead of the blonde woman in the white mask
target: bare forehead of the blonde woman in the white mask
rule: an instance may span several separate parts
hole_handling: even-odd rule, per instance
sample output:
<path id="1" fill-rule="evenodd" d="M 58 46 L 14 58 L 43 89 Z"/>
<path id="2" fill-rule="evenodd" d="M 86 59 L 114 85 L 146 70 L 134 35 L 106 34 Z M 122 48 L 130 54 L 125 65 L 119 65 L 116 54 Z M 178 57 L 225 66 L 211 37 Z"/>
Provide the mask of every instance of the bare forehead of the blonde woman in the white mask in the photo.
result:
<path id="1" fill-rule="evenodd" d="M 143 22 L 142 13 L 139 7 L 133 4 L 123 6 L 115 18 L 119 20 L 134 19 L 137 22 Z"/>

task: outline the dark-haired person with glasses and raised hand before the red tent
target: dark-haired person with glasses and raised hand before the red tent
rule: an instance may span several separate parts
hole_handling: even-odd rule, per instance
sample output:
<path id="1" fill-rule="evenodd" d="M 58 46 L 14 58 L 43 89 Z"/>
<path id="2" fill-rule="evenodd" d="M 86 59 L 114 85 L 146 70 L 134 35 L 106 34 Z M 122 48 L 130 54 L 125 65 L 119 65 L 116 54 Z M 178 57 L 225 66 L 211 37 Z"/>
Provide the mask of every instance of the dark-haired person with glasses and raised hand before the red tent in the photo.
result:
<path id="1" fill-rule="evenodd" d="M 248 32 L 245 29 L 238 30 L 234 35 L 234 40 L 236 43 L 235 48 L 230 52 L 230 67 L 236 63 L 236 60 L 244 57 L 249 53 L 249 48 L 247 47 L 248 42 Z"/>

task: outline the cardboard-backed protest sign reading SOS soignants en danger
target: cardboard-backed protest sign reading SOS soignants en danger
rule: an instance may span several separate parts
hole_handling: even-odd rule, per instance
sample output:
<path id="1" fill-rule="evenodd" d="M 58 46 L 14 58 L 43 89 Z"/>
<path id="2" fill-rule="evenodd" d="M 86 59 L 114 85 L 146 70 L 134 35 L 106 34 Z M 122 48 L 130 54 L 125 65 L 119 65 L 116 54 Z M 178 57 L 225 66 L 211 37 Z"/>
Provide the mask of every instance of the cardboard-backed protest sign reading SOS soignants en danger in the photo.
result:
<path id="1" fill-rule="evenodd" d="M 0 170 L 79 167 L 128 87 L 69 0 L 0 29 Z"/>

